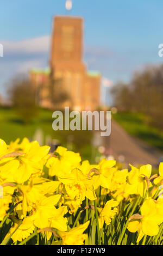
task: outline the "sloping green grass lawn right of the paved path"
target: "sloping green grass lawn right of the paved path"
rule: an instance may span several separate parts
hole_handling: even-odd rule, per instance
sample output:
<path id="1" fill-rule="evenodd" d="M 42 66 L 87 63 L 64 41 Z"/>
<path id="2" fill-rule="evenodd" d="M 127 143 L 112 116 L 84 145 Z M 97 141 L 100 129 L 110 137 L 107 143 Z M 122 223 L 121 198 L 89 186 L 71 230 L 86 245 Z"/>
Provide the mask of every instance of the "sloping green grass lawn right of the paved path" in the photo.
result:
<path id="1" fill-rule="evenodd" d="M 145 123 L 145 116 L 137 113 L 117 112 L 112 115 L 130 135 L 140 138 L 163 151 L 163 131 Z"/>

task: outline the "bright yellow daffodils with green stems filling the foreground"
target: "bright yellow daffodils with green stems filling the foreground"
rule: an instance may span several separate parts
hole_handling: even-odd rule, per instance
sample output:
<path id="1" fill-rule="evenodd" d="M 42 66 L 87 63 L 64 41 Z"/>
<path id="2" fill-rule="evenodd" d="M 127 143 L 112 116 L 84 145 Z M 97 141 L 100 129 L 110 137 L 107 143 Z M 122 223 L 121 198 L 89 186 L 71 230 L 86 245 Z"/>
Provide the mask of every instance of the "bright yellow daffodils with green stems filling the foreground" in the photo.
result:
<path id="1" fill-rule="evenodd" d="M 119 169 L 0 139 L 1 245 L 162 245 L 163 163 Z"/>

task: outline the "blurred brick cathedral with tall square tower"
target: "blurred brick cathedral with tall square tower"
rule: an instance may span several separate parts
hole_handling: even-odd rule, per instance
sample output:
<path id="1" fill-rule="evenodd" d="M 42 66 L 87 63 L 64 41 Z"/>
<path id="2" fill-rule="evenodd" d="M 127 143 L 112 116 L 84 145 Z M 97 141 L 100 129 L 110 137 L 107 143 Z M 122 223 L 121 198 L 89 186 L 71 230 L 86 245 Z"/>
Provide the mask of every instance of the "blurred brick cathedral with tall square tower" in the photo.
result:
<path id="1" fill-rule="evenodd" d="M 55 81 L 58 92 L 67 95 L 61 100 L 76 111 L 94 111 L 99 106 L 101 75 L 87 71 L 83 62 L 83 19 L 55 16 L 51 38 L 49 68 L 30 70 L 30 80 L 36 88 L 36 99 L 45 108 L 54 108 L 49 100 L 49 81 Z M 55 99 L 55 97 L 54 97 Z M 55 100 L 54 100 L 55 101 Z"/>

